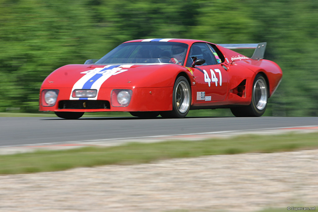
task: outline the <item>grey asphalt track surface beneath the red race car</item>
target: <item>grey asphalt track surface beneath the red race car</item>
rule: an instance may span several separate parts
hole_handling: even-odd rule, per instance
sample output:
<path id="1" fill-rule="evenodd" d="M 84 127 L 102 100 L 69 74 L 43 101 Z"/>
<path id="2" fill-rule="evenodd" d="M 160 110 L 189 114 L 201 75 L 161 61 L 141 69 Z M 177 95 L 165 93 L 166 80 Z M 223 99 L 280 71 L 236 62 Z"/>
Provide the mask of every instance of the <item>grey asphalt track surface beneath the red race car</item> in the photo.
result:
<path id="1" fill-rule="evenodd" d="M 0 117 L 0 147 L 317 125 L 318 117 Z"/>

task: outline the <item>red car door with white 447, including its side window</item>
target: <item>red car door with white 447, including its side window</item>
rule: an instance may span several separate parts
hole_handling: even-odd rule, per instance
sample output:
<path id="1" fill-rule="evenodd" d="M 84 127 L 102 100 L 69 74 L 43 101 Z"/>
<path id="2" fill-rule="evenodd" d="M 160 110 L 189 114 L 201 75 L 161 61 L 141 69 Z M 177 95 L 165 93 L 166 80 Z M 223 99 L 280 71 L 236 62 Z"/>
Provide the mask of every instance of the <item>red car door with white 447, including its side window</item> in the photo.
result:
<path id="1" fill-rule="evenodd" d="M 197 88 L 197 96 L 194 99 L 202 104 L 224 100 L 227 95 L 227 71 L 219 65 L 220 61 L 206 43 L 195 43 L 191 46 L 186 66 L 190 67 L 200 58 L 205 59 L 205 63 L 194 68 L 193 75 Z"/>

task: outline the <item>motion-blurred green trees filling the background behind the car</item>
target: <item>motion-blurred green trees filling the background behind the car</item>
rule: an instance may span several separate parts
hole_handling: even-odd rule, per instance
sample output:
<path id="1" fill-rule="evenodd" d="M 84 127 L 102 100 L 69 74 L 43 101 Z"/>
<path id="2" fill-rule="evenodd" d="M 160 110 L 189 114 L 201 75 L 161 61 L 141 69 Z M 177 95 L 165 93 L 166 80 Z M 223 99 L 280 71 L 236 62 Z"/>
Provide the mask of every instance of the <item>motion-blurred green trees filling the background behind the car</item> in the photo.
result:
<path id="1" fill-rule="evenodd" d="M 265 115 L 318 115 L 316 0 L 0 0 L 0 4 L 0 112 L 8 108 L 36 112 L 40 85 L 50 72 L 100 58 L 126 40 L 193 38 L 267 42 L 265 58 L 280 65 L 283 81 Z"/>

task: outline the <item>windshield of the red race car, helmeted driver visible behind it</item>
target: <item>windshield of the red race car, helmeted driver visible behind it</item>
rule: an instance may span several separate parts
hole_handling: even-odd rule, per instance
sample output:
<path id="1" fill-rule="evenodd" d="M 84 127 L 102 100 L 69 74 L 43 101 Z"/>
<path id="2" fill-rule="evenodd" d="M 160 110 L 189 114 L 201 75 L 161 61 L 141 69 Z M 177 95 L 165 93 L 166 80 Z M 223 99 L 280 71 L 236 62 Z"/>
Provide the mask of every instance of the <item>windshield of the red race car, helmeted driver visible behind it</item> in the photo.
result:
<path id="1" fill-rule="evenodd" d="M 183 65 L 188 45 L 176 42 L 120 44 L 95 64 L 173 63 Z"/>

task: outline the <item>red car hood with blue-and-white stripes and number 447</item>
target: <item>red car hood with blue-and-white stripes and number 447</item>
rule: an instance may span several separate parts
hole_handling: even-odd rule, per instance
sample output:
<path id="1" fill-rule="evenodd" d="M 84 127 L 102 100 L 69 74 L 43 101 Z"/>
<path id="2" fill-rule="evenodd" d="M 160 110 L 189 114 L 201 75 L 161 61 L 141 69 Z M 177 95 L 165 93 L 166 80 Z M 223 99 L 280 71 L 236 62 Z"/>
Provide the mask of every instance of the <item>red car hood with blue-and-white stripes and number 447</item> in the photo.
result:
<path id="1" fill-rule="evenodd" d="M 173 87 L 175 73 L 186 70 L 176 64 L 65 65 L 52 72 L 42 88 Z M 173 79 L 173 80 L 172 80 Z"/>

